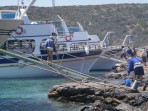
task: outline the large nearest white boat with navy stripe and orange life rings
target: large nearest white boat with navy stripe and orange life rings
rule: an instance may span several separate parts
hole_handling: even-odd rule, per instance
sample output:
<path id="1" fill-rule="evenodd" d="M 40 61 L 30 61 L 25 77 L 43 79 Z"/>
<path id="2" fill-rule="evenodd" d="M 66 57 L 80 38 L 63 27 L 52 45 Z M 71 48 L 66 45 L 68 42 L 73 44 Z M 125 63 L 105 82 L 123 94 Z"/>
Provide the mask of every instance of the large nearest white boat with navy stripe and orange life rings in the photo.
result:
<path id="1" fill-rule="evenodd" d="M 58 64 L 58 67 L 66 67 L 88 74 L 102 52 L 98 41 L 92 42 L 91 39 L 97 36 L 89 35 L 87 31 L 82 29 L 79 23 L 78 27 L 67 27 L 66 22 L 60 16 L 58 16 L 59 21 L 31 22 L 26 12 L 34 1 L 26 8 L 22 6 L 19 11 L 11 11 L 11 15 L 14 18 L 22 19 L 23 24 L 12 33 L 3 45 L 3 49 L 9 53 L 4 53 L 0 58 L 0 78 L 54 76 L 54 72 L 42 70 L 47 68 L 47 64 L 45 66 L 38 66 L 27 61 L 29 60 L 27 58 L 31 58 L 46 63 L 47 51 L 43 44 L 49 36 L 55 38 L 58 50 L 53 55 L 54 64 Z M 9 16 L 10 11 L 5 10 L 5 14 Z M 17 57 L 14 57 L 15 54 L 17 54 Z"/>

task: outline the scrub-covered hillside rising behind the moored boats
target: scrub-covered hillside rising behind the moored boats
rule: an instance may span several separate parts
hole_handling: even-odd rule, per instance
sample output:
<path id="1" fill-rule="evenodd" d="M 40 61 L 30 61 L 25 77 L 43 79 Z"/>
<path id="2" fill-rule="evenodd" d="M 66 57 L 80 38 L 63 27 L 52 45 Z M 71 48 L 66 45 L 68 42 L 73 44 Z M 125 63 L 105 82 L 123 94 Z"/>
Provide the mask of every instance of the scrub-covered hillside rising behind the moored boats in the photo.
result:
<path id="1" fill-rule="evenodd" d="M 17 9 L 15 6 L 0 7 Z M 136 47 L 148 47 L 148 4 L 108 4 L 87 6 L 35 7 L 28 11 L 30 20 L 59 20 L 60 15 L 68 26 L 81 23 L 89 34 L 98 34 L 102 40 L 108 31 L 115 31 L 112 38 L 121 43 L 126 34 L 131 34 Z"/>

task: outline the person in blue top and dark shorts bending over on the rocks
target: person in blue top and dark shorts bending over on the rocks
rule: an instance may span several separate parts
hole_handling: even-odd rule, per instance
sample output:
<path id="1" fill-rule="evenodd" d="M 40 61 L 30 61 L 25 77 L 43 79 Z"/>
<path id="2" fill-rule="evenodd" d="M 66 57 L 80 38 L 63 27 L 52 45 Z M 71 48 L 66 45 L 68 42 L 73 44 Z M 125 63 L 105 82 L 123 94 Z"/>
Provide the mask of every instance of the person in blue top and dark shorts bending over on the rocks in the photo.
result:
<path id="1" fill-rule="evenodd" d="M 135 51 L 132 51 L 131 58 L 129 59 L 129 63 L 128 63 L 128 74 L 130 74 L 132 71 L 135 74 L 134 79 L 135 80 L 139 79 L 142 85 L 143 75 L 144 75 L 143 64 L 142 64 L 142 60 L 136 57 Z"/>

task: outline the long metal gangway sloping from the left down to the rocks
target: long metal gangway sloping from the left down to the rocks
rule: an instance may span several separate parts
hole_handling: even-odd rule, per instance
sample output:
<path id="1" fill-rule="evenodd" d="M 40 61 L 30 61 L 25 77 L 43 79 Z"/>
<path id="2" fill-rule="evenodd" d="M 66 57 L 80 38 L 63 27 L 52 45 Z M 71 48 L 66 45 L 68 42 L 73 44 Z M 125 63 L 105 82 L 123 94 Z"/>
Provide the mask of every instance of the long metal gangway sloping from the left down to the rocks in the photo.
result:
<path id="1" fill-rule="evenodd" d="M 28 61 L 28 62 L 34 64 L 34 65 L 30 65 L 31 67 L 36 67 L 36 68 L 39 68 L 41 70 L 54 72 L 56 74 L 64 76 L 64 77 L 66 77 L 66 78 L 68 78 L 68 79 L 70 79 L 74 82 L 78 82 L 80 84 L 83 84 L 84 82 L 95 82 L 95 83 L 98 83 L 98 84 L 101 84 L 101 85 L 104 85 L 104 86 L 105 85 L 107 85 L 107 86 L 112 85 L 114 87 L 127 88 L 127 87 L 119 85 L 119 84 L 107 82 L 103 78 L 99 79 L 97 77 L 93 77 L 93 76 L 90 76 L 88 74 L 84 74 L 84 73 L 81 73 L 81 72 L 60 66 L 60 65 L 55 64 L 55 63 L 51 63 L 51 65 L 48 65 L 48 64 L 45 63 L 45 61 L 43 61 L 39 58 L 38 58 L 38 60 L 37 60 L 37 58 L 36 59 L 27 58 L 27 57 L 24 57 L 24 56 L 20 56 L 19 54 L 8 52 L 8 51 L 3 50 L 3 49 L 0 49 L 0 53 Z M 26 64 L 26 65 L 28 65 L 28 64 Z"/>

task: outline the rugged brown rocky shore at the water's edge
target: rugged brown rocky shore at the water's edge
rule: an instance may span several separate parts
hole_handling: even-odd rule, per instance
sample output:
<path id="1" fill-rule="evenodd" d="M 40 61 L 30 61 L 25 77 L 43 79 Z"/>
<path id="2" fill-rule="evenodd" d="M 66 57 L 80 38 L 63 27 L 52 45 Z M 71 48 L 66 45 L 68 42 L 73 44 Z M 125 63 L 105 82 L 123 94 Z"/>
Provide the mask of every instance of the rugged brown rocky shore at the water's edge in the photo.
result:
<path id="1" fill-rule="evenodd" d="M 126 73 L 111 73 L 105 75 L 106 80 L 123 79 Z M 148 73 L 144 77 L 148 85 Z M 48 98 L 58 101 L 78 102 L 84 106 L 80 111 L 148 111 L 148 87 L 132 90 L 125 85 L 110 82 L 72 82 L 53 86 Z"/>

